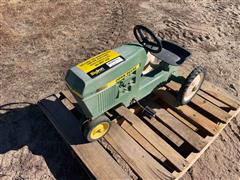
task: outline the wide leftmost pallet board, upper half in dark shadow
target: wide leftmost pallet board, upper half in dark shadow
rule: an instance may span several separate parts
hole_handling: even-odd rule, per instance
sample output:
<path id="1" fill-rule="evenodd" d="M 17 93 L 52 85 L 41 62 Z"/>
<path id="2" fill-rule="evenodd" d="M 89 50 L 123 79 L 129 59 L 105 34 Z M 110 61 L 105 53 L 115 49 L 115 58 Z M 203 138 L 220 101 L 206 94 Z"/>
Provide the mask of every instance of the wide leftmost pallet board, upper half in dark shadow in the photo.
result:
<path id="1" fill-rule="evenodd" d="M 98 142 L 83 143 L 79 121 L 55 96 L 38 105 L 95 178 L 130 179 Z"/>

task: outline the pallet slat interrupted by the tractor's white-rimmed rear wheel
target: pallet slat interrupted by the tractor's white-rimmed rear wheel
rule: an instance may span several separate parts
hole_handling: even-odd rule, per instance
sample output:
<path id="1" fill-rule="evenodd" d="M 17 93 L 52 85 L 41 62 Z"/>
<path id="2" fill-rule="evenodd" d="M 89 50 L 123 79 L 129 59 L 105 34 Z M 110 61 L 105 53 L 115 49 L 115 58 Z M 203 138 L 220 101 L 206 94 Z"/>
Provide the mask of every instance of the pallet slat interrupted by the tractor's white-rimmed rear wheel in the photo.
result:
<path id="1" fill-rule="evenodd" d="M 174 81 L 169 82 L 166 86 L 174 91 L 178 91 L 181 87 L 180 84 Z M 207 101 L 206 99 L 202 98 L 197 94 L 192 98 L 191 102 L 200 107 L 201 109 L 212 114 L 222 122 L 226 122 L 230 118 L 230 115 L 227 112 L 223 111 L 219 107 L 215 106 L 214 104 L 212 104 L 211 102 Z"/>

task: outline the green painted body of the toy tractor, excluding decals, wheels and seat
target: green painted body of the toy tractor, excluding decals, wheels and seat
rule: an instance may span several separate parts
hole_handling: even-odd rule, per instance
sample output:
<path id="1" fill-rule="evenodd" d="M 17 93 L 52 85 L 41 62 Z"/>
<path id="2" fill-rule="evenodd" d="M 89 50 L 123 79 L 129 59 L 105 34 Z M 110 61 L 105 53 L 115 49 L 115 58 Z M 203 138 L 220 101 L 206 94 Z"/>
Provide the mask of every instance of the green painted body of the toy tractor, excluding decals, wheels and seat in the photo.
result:
<path id="1" fill-rule="evenodd" d="M 119 104 L 129 106 L 133 99 L 144 98 L 176 72 L 177 66 L 161 62 L 159 67 L 142 75 L 147 53 L 139 44 L 126 44 L 113 50 L 125 61 L 94 78 L 76 66 L 67 72 L 67 86 L 78 102 L 79 111 L 87 118 L 94 119 Z M 136 66 L 139 68 L 135 72 L 115 85 L 99 90 Z"/>

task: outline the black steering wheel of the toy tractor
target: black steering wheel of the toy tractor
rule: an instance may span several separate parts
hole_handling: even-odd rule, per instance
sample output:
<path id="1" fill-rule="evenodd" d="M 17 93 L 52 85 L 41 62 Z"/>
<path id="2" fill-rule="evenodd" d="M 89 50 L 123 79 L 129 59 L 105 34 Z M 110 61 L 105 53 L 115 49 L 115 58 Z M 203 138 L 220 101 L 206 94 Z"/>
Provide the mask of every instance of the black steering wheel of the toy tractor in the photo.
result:
<path id="1" fill-rule="evenodd" d="M 158 38 L 150 29 L 143 25 L 136 25 L 133 33 L 138 42 L 152 53 L 159 53 L 162 50 L 161 39 Z"/>

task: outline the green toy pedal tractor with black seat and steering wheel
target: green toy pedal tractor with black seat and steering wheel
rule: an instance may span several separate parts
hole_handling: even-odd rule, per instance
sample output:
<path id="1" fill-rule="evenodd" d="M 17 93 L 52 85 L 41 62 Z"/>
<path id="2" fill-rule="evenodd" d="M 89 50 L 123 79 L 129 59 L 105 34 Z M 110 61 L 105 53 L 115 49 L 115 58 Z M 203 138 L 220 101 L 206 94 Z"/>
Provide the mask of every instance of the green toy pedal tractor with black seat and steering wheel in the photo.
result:
<path id="1" fill-rule="evenodd" d="M 68 70 L 67 86 L 87 120 L 83 135 L 87 141 L 103 137 L 111 122 L 104 115 L 118 106 L 128 107 L 149 95 L 176 75 L 176 70 L 191 54 L 171 42 L 161 40 L 150 29 L 136 25 L 139 43 L 129 43 L 92 57 Z M 195 68 L 185 79 L 178 94 L 181 104 L 188 103 L 204 81 L 202 68 Z"/>

